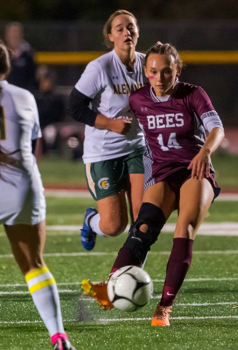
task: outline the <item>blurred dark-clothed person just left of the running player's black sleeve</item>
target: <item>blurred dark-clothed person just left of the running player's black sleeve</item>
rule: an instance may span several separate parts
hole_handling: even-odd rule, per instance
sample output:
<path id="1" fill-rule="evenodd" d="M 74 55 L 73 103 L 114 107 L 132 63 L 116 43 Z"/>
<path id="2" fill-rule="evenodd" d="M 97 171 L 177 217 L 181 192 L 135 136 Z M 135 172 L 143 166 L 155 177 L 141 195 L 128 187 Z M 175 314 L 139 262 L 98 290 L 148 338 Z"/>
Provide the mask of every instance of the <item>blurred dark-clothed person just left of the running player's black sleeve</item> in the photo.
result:
<path id="1" fill-rule="evenodd" d="M 65 103 L 63 97 L 54 91 L 56 80 L 54 71 L 47 66 L 39 66 L 36 70 L 36 78 L 39 87 L 34 96 L 39 112 L 40 127 L 43 132 L 47 125 L 63 120 Z M 44 138 L 42 138 L 42 152 L 46 152 Z"/>

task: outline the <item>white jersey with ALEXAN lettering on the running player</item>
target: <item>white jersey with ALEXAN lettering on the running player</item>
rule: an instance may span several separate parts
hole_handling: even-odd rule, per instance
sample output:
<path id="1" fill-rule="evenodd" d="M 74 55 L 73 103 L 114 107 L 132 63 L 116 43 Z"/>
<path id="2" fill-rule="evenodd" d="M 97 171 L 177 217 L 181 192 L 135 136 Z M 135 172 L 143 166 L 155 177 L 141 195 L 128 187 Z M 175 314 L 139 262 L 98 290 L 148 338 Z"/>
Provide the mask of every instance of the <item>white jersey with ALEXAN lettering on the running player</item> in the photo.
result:
<path id="1" fill-rule="evenodd" d="M 144 56 L 135 52 L 134 71 L 129 72 L 112 50 L 90 62 L 75 85 L 78 91 L 93 98 L 89 107 L 98 114 L 108 118 L 133 118 L 126 135 L 86 125 L 84 163 L 118 158 L 144 146 L 142 130 L 129 106 L 129 94 L 148 82 L 143 69 Z"/>

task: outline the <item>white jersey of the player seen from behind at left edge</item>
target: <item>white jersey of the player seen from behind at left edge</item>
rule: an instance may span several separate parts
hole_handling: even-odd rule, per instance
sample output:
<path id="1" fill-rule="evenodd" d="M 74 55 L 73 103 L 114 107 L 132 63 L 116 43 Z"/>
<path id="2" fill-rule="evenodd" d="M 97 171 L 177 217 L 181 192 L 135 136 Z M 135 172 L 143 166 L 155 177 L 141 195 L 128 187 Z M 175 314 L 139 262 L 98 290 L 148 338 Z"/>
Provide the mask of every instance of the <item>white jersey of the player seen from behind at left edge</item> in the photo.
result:
<path id="1" fill-rule="evenodd" d="M 36 163 L 31 141 L 41 137 L 35 98 L 28 90 L 0 81 L 0 152 L 18 167 L 0 162 L 1 170 L 31 174 Z"/>

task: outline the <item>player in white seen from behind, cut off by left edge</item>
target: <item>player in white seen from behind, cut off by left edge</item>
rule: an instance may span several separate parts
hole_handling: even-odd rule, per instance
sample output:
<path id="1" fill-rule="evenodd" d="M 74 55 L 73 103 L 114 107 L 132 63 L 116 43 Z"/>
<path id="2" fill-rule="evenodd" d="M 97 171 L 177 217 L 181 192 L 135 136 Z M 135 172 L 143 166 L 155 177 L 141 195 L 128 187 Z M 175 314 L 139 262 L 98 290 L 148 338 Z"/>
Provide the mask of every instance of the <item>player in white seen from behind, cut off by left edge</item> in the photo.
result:
<path id="1" fill-rule="evenodd" d="M 32 140 L 41 137 L 33 95 L 6 80 L 10 55 L 0 41 L 0 224 L 55 350 L 73 350 L 64 331 L 60 298 L 43 259 L 46 202 Z M 16 340 L 17 341 L 17 340 Z"/>

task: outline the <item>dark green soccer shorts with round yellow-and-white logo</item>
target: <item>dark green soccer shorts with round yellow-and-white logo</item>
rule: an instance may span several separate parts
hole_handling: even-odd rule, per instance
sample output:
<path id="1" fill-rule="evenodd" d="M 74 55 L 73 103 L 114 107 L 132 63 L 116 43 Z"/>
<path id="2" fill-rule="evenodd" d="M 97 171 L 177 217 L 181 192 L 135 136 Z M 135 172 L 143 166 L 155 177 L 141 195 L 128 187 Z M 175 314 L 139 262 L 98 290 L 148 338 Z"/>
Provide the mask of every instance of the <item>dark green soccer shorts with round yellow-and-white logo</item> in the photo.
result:
<path id="1" fill-rule="evenodd" d="M 119 158 L 87 163 L 86 179 L 88 190 L 95 201 L 117 194 L 127 189 L 129 174 L 144 174 L 143 153 L 140 147 Z"/>

